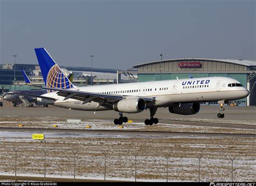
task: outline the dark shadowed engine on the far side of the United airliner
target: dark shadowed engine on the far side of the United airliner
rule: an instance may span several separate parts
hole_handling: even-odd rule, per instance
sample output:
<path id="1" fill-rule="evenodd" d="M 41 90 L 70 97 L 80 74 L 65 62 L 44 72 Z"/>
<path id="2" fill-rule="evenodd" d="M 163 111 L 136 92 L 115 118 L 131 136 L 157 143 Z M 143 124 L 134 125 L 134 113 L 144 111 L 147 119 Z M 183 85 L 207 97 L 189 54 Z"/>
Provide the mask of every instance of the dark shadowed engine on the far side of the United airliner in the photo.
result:
<path id="1" fill-rule="evenodd" d="M 194 103 L 194 104 L 181 104 L 179 105 L 174 105 L 169 107 L 170 113 L 173 114 L 183 114 L 183 115 L 191 115 L 191 114 L 196 114 L 200 110 L 200 104 L 199 103 Z"/>

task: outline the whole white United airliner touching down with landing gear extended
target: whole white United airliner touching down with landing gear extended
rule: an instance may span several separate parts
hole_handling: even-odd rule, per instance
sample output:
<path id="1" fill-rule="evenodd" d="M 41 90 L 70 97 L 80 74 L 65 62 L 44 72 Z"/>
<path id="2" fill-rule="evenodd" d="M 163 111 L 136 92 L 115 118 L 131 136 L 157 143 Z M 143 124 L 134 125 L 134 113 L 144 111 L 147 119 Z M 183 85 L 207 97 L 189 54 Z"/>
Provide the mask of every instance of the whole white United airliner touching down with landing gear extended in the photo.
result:
<path id="1" fill-rule="evenodd" d="M 145 125 L 158 123 L 154 118 L 159 107 L 169 107 L 174 114 L 190 115 L 199 112 L 199 102 L 219 101 L 218 118 L 224 118 L 224 103 L 248 96 L 248 90 L 239 81 L 226 77 L 177 79 L 126 84 L 76 87 L 44 49 L 35 49 L 41 67 L 45 89 L 49 93 L 39 96 L 37 104 L 50 104 L 82 111 L 119 112 L 114 124 L 127 122 L 123 113 L 150 110 Z"/>

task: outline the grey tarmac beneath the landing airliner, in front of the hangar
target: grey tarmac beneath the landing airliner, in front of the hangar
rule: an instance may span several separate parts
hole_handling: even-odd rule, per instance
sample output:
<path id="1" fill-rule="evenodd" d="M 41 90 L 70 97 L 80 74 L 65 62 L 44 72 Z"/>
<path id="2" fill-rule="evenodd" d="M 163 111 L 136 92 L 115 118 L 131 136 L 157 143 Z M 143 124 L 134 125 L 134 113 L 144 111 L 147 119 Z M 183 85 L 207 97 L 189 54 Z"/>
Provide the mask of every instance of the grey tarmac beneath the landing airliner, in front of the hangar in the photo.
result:
<path id="1" fill-rule="evenodd" d="M 91 111 L 75 111 L 69 110 L 65 108 L 49 106 L 46 107 L 12 107 L 7 101 L 3 101 L 3 107 L 0 107 L 0 116 L 52 116 L 59 118 L 80 118 L 80 119 L 106 119 L 106 120 L 114 120 L 118 118 L 118 112 L 114 111 L 99 111 L 99 112 L 91 112 Z M 159 120 L 176 120 L 176 119 L 184 119 L 190 120 L 191 118 L 195 119 L 206 119 L 206 120 L 216 120 L 219 122 L 229 122 L 234 123 L 240 122 L 242 124 L 244 121 L 255 121 L 256 124 L 256 107 L 255 106 L 225 106 L 225 117 L 223 119 L 217 118 L 217 113 L 219 112 L 219 106 L 205 106 L 202 105 L 200 111 L 194 115 L 178 115 L 171 114 L 168 108 L 158 108 L 155 118 Z M 134 121 L 143 121 L 145 119 L 150 118 L 149 109 L 137 113 L 137 114 L 125 114 L 129 120 Z M 166 121 L 169 122 L 169 121 Z"/>

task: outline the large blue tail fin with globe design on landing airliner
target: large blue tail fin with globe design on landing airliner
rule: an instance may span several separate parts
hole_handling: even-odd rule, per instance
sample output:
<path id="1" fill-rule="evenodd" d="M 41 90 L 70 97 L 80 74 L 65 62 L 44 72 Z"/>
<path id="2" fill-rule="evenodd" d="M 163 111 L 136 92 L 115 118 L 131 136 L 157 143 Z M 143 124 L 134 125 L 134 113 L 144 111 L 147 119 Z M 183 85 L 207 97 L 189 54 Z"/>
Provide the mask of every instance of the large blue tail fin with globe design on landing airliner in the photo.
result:
<path id="1" fill-rule="evenodd" d="M 74 87 L 44 48 L 35 49 L 35 52 L 46 87 L 62 89 Z"/>

